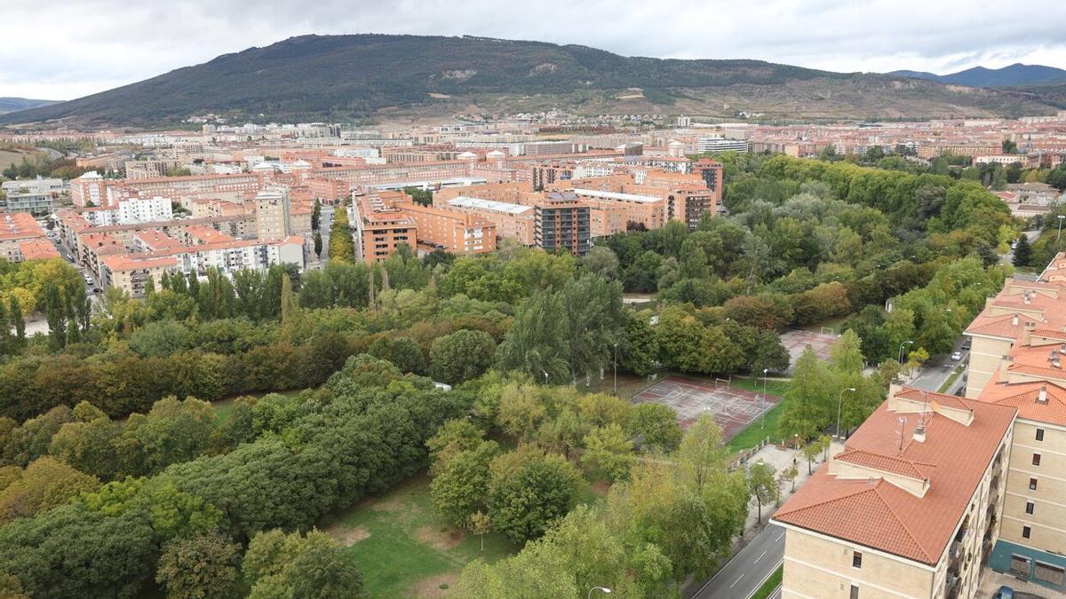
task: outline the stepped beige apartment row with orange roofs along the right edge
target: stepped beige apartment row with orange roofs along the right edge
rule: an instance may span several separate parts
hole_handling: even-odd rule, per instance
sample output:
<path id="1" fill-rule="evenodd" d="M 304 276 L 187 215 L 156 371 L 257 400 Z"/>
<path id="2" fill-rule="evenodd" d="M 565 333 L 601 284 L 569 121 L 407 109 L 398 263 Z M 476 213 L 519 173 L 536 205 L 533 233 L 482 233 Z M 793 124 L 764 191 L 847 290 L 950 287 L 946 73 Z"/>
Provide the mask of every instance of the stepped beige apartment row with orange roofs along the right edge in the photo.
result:
<path id="1" fill-rule="evenodd" d="M 1066 593 L 1066 255 L 1007 279 L 966 330 L 967 396 L 1018 410 L 992 569 Z"/>

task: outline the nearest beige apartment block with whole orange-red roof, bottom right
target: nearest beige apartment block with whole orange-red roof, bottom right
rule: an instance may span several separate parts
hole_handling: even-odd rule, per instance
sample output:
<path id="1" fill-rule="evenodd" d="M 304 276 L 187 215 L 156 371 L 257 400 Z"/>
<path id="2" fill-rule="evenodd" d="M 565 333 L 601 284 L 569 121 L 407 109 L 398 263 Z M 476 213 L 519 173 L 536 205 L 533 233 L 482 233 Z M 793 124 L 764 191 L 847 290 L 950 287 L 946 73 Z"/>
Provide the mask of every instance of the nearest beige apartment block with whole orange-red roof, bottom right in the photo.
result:
<path id="1" fill-rule="evenodd" d="M 774 514 L 781 597 L 973 597 L 1017 408 L 899 387 Z"/>

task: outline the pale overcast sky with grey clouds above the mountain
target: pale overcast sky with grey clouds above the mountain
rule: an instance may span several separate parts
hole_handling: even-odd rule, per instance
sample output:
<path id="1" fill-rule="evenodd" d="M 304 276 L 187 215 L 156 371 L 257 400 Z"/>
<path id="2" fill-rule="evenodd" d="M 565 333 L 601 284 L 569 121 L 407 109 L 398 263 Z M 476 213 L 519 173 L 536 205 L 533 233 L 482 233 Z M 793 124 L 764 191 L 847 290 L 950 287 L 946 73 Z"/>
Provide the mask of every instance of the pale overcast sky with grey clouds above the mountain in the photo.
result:
<path id="1" fill-rule="evenodd" d="M 307 33 L 486 35 L 840 71 L 1066 68 L 1062 0 L 0 0 L 0 96 L 71 99 Z"/>

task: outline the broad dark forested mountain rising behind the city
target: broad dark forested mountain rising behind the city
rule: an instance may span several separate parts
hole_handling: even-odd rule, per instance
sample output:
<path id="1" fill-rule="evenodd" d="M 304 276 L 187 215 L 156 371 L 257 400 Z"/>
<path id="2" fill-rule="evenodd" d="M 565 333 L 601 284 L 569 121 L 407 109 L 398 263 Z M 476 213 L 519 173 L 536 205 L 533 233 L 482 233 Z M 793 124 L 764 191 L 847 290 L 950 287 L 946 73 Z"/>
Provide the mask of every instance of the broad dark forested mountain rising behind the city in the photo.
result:
<path id="1" fill-rule="evenodd" d="M 487 37 L 304 35 L 0 116 L 109 127 L 410 119 L 561 109 L 578 114 L 841 120 L 1020 116 L 1039 94 L 958 90 L 938 81 L 842 74 L 749 60 L 630 58 L 585 46 Z"/>

